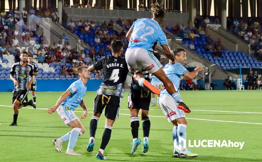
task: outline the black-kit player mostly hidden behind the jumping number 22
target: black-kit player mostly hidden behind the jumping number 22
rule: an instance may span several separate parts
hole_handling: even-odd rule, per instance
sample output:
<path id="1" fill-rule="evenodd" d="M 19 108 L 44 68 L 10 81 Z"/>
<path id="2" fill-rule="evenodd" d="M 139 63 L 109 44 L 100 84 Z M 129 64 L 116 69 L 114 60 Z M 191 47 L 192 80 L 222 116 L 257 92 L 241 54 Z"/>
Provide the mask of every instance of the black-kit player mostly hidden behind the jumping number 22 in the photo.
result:
<path id="1" fill-rule="evenodd" d="M 157 42 L 154 44 L 152 49 L 155 49 Z M 160 60 L 160 54 L 157 51 L 153 52 L 154 56 Z M 142 67 L 142 74 L 144 75 L 145 80 L 151 82 L 152 74 L 147 72 L 147 70 Z M 139 128 L 139 119 L 138 112 L 140 110 L 143 134 L 144 134 L 144 143 L 143 143 L 143 153 L 148 151 L 148 136 L 150 131 L 150 120 L 148 117 L 148 110 L 151 100 L 151 92 L 149 90 L 143 89 L 139 84 L 133 79 L 131 79 L 130 92 L 128 95 L 128 108 L 130 110 L 130 120 L 131 120 L 131 132 L 133 136 L 132 151 L 135 153 L 137 146 L 141 143 L 141 140 L 138 138 L 138 128 Z"/>

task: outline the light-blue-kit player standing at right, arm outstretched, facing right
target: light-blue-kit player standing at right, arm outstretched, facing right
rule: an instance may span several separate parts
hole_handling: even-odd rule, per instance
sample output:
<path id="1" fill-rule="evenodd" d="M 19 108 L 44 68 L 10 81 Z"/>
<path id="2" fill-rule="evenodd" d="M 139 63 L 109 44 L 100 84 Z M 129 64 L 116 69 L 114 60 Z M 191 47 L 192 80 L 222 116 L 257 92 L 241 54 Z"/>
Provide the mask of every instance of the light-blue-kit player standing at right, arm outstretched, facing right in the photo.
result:
<path id="1" fill-rule="evenodd" d="M 180 83 L 180 76 L 183 75 L 184 77 L 187 77 L 188 79 L 192 80 L 196 75 L 198 75 L 198 72 L 203 70 L 202 67 L 196 67 L 193 72 L 189 72 L 183 64 L 186 61 L 186 53 L 185 50 L 182 48 L 177 48 L 174 51 L 175 54 L 175 61 L 176 63 L 173 65 L 171 63 L 168 63 L 165 65 L 164 71 L 167 74 L 168 78 L 173 82 L 175 87 L 179 88 Z M 176 106 L 176 100 L 174 97 L 172 97 L 167 90 L 165 89 L 165 86 L 162 84 L 161 86 L 161 94 L 159 99 L 160 107 L 165 114 L 165 117 L 167 118 L 168 122 L 172 122 L 173 127 L 173 141 L 174 146 L 178 146 L 178 144 L 181 144 L 181 150 L 178 150 L 174 147 L 173 155 L 175 157 L 197 157 L 198 154 L 191 153 L 186 146 L 184 145 L 183 141 L 181 143 L 178 143 L 179 137 L 182 137 L 186 140 L 186 125 L 187 121 L 185 119 L 185 114 L 183 110 L 179 110 Z M 176 140 L 175 140 L 176 139 Z"/>

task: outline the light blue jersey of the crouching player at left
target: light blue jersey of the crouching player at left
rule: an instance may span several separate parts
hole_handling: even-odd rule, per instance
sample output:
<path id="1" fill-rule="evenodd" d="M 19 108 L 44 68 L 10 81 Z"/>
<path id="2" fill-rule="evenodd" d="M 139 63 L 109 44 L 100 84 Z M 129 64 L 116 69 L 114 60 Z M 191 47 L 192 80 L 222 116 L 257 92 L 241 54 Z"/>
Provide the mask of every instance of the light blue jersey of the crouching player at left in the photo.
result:
<path id="1" fill-rule="evenodd" d="M 87 91 L 87 86 L 85 86 L 82 81 L 79 79 L 73 82 L 68 90 L 71 92 L 71 95 L 68 96 L 62 103 L 61 106 L 67 106 L 71 110 L 75 110 L 77 106 L 82 101 L 85 92 Z"/>

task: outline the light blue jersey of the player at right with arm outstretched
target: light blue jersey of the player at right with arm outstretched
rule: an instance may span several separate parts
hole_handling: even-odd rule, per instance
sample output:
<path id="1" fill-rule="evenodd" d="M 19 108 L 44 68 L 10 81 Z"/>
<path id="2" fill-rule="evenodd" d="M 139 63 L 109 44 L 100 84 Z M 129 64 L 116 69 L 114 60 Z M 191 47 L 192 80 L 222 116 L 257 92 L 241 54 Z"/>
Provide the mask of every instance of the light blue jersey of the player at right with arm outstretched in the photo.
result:
<path id="1" fill-rule="evenodd" d="M 171 63 L 168 63 L 167 65 L 165 65 L 164 71 L 166 75 L 168 76 L 168 78 L 171 80 L 171 82 L 175 85 L 175 88 L 177 90 L 179 89 L 180 76 L 188 72 L 188 70 L 179 62 L 176 62 L 173 65 Z M 164 85 L 162 84 L 160 98 L 165 95 L 170 95 L 170 94 L 165 89 Z"/>

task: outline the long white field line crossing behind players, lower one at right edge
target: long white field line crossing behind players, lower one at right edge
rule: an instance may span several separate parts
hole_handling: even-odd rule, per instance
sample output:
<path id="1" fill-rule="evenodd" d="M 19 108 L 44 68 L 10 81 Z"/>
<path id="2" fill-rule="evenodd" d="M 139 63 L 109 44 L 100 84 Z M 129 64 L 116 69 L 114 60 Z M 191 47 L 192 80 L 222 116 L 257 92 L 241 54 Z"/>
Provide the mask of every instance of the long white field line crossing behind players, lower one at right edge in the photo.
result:
<path id="1" fill-rule="evenodd" d="M 12 107 L 8 105 L 0 105 L 2 107 Z M 23 107 L 26 108 L 26 107 Z M 34 109 L 34 108 L 26 108 L 26 109 Z M 47 108 L 37 108 L 37 110 L 47 110 Z M 93 110 L 93 109 L 92 109 Z M 211 111 L 211 110 L 210 110 Z M 74 111 L 77 113 L 83 113 L 83 111 Z M 119 114 L 119 115 L 130 115 L 130 114 Z M 139 115 L 140 116 L 140 115 Z M 165 116 L 153 116 L 149 115 L 149 117 L 158 117 L 158 118 L 165 118 Z M 237 122 L 237 121 L 227 121 L 227 120 L 210 120 L 210 119 L 198 119 L 198 118 L 187 118 L 187 119 L 192 119 L 192 120 L 205 120 L 205 121 L 217 121 L 217 122 L 228 122 L 228 123 L 244 123 L 244 124 L 258 124 L 262 125 L 262 123 L 249 123 L 249 122 Z"/>

